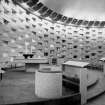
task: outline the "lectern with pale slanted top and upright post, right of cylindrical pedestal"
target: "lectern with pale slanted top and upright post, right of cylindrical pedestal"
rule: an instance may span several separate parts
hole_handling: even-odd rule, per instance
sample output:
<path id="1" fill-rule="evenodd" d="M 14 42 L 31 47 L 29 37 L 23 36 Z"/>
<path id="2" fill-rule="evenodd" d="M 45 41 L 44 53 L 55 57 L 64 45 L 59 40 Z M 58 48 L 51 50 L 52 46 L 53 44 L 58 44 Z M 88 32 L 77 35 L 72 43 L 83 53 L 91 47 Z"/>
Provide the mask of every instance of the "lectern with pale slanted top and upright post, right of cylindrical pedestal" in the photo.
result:
<path id="1" fill-rule="evenodd" d="M 88 62 L 67 61 L 62 64 L 64 74 L 68 77 L 79 78 L 79 89 L 81 93 L 81 105 L 87 102 L 87 68 Z"/>

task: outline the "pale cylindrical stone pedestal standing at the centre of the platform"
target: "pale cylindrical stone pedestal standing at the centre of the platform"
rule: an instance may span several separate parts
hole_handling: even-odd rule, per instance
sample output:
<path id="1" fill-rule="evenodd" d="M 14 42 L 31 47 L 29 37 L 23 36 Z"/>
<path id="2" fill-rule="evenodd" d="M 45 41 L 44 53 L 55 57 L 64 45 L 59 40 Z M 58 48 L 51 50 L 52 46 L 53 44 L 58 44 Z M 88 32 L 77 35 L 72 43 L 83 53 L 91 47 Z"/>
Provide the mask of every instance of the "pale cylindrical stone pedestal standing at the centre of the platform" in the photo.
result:
<path id="1" fill-rule="evenodd" d="M 41 98 L 57 98 L 62 96 L 61 71 L 36 71 L 35 94 Z"/>

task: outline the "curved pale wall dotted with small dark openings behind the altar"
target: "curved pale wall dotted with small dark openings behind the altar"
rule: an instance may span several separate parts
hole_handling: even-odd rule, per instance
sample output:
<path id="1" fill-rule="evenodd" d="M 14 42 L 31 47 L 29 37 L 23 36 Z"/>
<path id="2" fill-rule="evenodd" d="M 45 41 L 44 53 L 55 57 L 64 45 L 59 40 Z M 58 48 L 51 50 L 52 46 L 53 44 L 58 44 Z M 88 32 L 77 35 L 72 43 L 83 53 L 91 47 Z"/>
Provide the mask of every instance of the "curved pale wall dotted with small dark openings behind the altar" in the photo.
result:
<path id="1" fill-rule="evenodd" d="M 6 4 L 2 1 L 0 11 L 0 57 L 11 58 L 25 53 L 26 42 L 29 53 L 46 56 L 51 64 L 53 58 L 61 64 L 67 60 L 91 62 L 105 56 L 104 28 L 51 23 L 27 14 L 12 2 Z"/>

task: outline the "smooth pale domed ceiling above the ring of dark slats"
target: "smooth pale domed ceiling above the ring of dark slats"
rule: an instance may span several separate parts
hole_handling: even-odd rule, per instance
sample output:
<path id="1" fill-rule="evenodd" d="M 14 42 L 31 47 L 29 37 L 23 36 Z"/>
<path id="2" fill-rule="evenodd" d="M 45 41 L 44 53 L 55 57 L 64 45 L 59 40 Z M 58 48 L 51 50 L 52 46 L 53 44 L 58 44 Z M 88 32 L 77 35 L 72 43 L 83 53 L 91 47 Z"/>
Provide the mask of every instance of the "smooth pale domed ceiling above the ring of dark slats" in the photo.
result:
<path id="1" fill-rule="evenodd" d="M 68 17 L 105 20 L 105 0 L 40 0 L 47 7 Z"/>

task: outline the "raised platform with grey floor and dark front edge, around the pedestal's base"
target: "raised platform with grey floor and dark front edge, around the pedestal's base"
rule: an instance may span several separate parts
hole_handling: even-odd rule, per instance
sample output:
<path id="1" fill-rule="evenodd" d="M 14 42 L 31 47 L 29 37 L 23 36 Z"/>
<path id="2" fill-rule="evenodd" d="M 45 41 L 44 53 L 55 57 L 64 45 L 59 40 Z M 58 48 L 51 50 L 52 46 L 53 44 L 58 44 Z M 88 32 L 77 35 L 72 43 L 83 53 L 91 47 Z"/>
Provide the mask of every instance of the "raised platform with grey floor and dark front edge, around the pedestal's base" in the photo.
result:
<path id="1" fill-rule="evenodd" d="M 0 82 L 0 105 L 80 105 L 80 94 L 63 87 L 63 96 L 43 99 L 35 95 L 35 74 L 29 72 L 6 72 Z M 73 95 L 73 96 L 72 96 Z"/>

